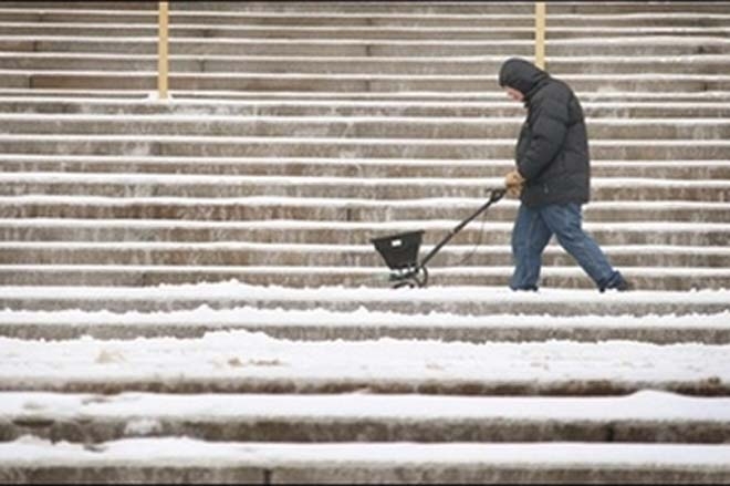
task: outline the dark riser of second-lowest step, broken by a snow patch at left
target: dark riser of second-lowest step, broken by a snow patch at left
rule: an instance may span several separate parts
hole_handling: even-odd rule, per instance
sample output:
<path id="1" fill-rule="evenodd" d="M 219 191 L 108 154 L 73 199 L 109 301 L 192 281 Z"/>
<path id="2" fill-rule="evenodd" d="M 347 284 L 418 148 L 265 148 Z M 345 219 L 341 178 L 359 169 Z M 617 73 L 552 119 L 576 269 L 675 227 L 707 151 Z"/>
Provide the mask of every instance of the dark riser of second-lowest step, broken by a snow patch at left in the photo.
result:
<path id="1" fill-rule="evenodd" d="M 0 426 L 0 441 L 33 435 L 53 442 L 98 443 L 128 438 L 131 420 L 84 418 L 54 421 L 38 417 Z M 507 422 L 507 423 L 505 423 Z M 616 421 L 504 421 L 324 418 L 293 422 L 286 418 L 204 422 L 155 418 L 153 436 L 185 436 L 215 442 L 642 442 L 721 444 L 730 441 L 730 424 L 717 422 Z"/>

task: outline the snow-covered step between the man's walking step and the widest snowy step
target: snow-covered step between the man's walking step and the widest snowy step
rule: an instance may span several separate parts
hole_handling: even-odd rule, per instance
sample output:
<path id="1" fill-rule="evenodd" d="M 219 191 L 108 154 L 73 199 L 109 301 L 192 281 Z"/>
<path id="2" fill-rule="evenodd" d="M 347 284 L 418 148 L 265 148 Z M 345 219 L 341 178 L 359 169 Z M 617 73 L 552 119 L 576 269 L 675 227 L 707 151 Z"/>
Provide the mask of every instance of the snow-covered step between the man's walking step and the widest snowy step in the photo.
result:
<path id="1" fill-rule="evenodd" d="M 28 296 L 43 297 L 48 293 L 43 288 L 24 290 Z M 94 290 L 108 292 L 108 289 Z M 432 292 L 438 293 L 439 290 Z M 116 301 L 117 312 L 4 309 L 0 312 L 0 335 L 24 340 L 72 340 L 82 337 L 98 340 L 134 340 L 143 337 L 191 339 L 213 331 L 246 330 L 294 341 L 361 341 L 390 338 L 472 343 L 553 340 L 574 342 L 630 340 L 657 344 L 730 343 L 728 306 L 722 312 L 701 313 L 709 308 L 699 306 L 698 299 L 697 304 L 684 309 L 677 307 L 663 309 L 660 302 L 668 300 L 667 297 L 672 298 L 676 294 L 654 293 L 655 309 L 651 316 L 622 313 L 620 317 L 591 314 L 595 309 L 586 310 L 585 314 L 576 310 L 575 316 L 531 314 L 528 311 L 544 311 L 545 308 L 538 309 L 528 304 L 521 306 L 520 314 L 496 310 L 494 313 L 481 316 L 437 311 L 428 313 L 368 311 L 364 307 L 341 312 L 324 308 L 283 310 L 263 309 L 252 304 L 220 309 L 201 304 L 188 310 L 163 310 L 160 307 L 158 311 L 139 312 L 135 310 L 137 302 L 128 303 L 126 311 L 122 312 L 123 302 Z M 115 300 L 109 299 L 109 301 Z M 80 307 L 91 306 L 88 301 L 77 302 Z M 65 302 L 59 307 L 71 307 L 73 303 Z M 234 304 L 236 302 L 230 303 L 230 306 Z M 145 306 L 149 308 L 149 302 Z M 630 312 L 638 309 L 633 304 L 627 306 L 626 302 L 615 306 L 617 309 L 613 310 L 614 312 L 622 310 Z M 695 312 L 677 316 L 675 312 L 678 310 Z"/>

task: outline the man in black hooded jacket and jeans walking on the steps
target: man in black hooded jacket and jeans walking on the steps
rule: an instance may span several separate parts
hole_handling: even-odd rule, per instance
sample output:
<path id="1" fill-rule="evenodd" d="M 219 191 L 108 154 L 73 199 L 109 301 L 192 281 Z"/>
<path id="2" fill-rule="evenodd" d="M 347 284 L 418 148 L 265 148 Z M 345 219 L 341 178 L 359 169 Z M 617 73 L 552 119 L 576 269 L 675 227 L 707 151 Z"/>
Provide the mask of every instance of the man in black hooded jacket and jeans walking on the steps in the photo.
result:
<path id="1" fill-rule="evenodd" d="M 590 199 L 588 142 L 581 104 L 564 82 L 522 59 L 508 59 L 499 84 L 521 101 L 528 117 L 517 144 L 517 167 L 505 176 L 520 196 L 512 231 L 512 290 L 538 290 L 542 252 L 550 238 L 577 261 L 603 292 L 633 288 L 598 245 L 583 231 L 582 205 Z"/>

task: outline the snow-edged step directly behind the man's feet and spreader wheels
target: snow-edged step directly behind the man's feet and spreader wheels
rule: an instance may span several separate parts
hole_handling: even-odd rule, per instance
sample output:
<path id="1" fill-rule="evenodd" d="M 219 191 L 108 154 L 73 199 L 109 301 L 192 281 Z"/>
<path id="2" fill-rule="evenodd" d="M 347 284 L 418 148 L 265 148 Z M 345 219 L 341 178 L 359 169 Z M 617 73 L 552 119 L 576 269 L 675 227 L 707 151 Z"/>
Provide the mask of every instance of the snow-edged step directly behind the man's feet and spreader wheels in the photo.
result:
<path id="1" fill-rule="evenodd" d="M 595 283 L 574 261 L 545 266 L 541 282 L 546 287 L 595 289 Z M 238 280 L 254 286 L 284 285 L 315 288 L 388 286 L 388 273 L 379 267 L 336 266 L 196 266 L 196 265 L 0 265 L 3 286 L 160 286 Z M 461 266 L 429 269 L 438 286 L 507 286 L 513 266 Z M 638 289 L 696 290 L 730 287 L 730 269 L 701 267 L 622 267 Z"/>

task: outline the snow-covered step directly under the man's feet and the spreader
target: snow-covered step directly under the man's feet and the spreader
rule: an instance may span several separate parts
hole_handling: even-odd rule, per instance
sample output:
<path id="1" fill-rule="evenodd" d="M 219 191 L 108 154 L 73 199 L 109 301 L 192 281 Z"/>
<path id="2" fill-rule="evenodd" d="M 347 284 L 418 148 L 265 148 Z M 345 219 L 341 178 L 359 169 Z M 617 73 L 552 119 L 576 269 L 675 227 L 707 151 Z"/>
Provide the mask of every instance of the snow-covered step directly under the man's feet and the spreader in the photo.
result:
<path id="1" fill-rule="evenodd" d="M 387 273 L 387 272 L 386 272 Z M 387 283 L 387 275 L 383 278 Z M 58 311 L 82 309 L 112 312 L 169 312 L 201 306 L 212 309 L 259 309 L 336 312 L 398 312 L 427 319 L 432 312 L 458 316 L 646 316 L 708 314 L 730 310 L 727 290 L 605 292 L 553 289 L 512 292 L 500 287 L 439 287 L 390 289 L 341 285 L 321 288 L 250 286 L 236 281 L 194 286 L 74 287 L 6 286 L 0 308 Z M 244 311 L 241 311 L 244 313 Z M 209 319 L 215 321 L 216 319 Z M 702 318 L 698 317 L 697 322 Z M 348 321 L 351 322 L 351 321 Z M 353 321 L 354 322 L 354 321 Z M 613 320 L 616 323 L 618 321 Z"/>

